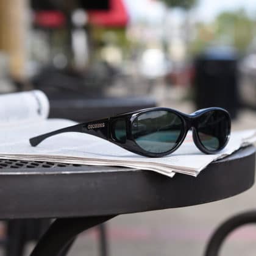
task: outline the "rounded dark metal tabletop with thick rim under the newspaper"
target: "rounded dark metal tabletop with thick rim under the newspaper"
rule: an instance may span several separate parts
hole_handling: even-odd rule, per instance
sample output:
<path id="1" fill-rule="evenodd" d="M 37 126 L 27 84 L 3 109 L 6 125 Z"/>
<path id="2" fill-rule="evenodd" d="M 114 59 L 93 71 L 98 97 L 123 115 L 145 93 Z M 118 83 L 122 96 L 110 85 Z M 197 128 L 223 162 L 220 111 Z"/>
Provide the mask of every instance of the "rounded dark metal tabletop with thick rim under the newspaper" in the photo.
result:
<path id="1" fill-rule="evenodd" d="M 25 166 L 25 167 L 24 167 Z M 254 184 L 249 146 L 211 163 L 199 176 L 0 160 L 0 218 L 119 215 L 217 201 Z"/>

